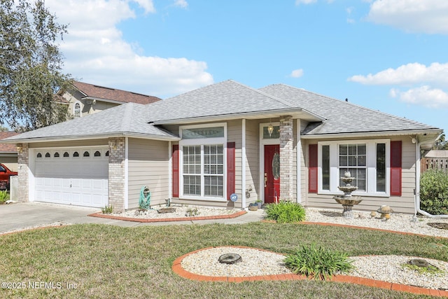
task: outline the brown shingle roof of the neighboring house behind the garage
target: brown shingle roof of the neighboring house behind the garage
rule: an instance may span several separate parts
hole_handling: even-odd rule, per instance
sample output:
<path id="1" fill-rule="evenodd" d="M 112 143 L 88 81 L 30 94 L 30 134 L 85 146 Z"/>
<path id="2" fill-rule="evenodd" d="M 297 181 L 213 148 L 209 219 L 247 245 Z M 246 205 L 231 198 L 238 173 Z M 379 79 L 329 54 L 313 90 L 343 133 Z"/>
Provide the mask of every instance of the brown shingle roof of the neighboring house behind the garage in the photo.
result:
<path id="1" fill-rule="evenodd" d="M 92 97 L 97 99 L 111 99 L 113 101 L 123 103 L 137 104 L 151 104 L 153 102 L 158 102 L 161 100 L 159 97 L 153 97 L 152 95 L 141 95 L 136 92 L 118 90 L 116 88 L 106 88 L 104 86 L 93 85 L 79 81 L 73 81 L 73 86 L 75 86 L 80 92 L 83 92 L 85 97 Z"/>

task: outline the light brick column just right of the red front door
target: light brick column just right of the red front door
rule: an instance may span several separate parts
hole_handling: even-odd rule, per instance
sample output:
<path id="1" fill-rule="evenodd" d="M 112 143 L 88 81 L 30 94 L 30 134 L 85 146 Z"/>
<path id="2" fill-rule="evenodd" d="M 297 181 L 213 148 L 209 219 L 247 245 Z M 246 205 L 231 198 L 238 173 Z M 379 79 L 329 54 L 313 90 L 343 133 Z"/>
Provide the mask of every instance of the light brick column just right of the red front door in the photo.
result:
<path id="1" fill-rule="evenodd" d="M 280 199 L 293 200 L 293 118 L 280 117 Z"/>

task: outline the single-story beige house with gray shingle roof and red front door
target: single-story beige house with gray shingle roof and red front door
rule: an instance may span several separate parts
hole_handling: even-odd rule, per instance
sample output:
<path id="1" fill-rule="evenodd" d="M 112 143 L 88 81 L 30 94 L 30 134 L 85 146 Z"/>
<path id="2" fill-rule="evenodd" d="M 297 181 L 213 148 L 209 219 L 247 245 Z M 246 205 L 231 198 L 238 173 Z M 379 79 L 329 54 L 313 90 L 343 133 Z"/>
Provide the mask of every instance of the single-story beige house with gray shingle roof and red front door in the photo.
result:
<path id="1" fill-rule="evenodd" d="M 151 204 L 246 208 L 293 200 L 342 209 L 332 199 L 349 170 L 363 197 L 414 213 L 419 158 L 442 132 L 288 85 L 259 90 L 224 81 L 141 105 L 10 137 L 19 153 L 21 201 L 116 210 Z M 230 195 L 237 194 L 232 202 Z"/>

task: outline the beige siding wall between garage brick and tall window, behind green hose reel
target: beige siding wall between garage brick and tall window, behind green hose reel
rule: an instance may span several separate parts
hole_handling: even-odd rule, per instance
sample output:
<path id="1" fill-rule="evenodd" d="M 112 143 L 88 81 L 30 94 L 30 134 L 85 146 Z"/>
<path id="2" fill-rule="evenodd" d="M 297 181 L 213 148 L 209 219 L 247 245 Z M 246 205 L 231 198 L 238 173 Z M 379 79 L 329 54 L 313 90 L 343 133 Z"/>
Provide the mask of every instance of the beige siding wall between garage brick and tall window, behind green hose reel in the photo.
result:
<path id="1" fill-rule="evenodd" d="M 165 204 L 169 197 L 169 149 L 167 141 L 129 139 L 129 209 L 139 207 L 140 190 L 151 190 L 151 206 Z"/>

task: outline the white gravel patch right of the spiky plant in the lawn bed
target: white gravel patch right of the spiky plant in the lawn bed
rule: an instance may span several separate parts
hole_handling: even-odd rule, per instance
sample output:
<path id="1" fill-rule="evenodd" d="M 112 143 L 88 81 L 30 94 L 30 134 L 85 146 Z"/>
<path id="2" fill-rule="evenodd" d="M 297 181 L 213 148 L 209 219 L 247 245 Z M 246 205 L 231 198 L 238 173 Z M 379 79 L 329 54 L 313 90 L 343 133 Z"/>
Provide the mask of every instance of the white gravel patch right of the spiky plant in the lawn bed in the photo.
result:
<path id="1" fill-rule="evenodd" d="M 419 274 L 416 270 L 402 266 L 415 256 L 356 256 L 351 257 L 355 270 L 349 275 L 365 277 L 395 284 L 406 284 L 422 288 L 448 289 L 448 263 L 442 260 L 426 260 L 443 272 Z"/>

